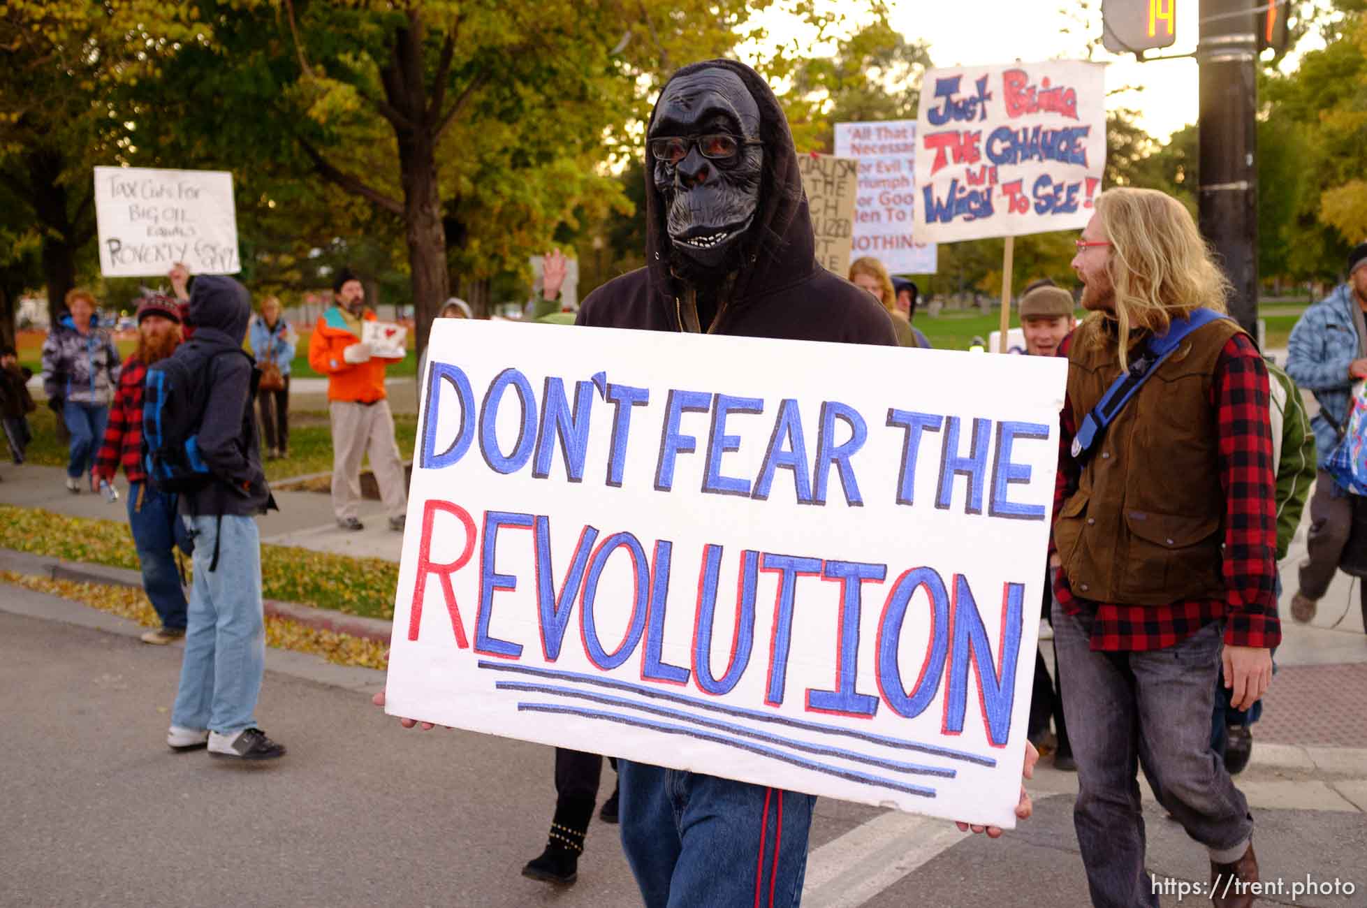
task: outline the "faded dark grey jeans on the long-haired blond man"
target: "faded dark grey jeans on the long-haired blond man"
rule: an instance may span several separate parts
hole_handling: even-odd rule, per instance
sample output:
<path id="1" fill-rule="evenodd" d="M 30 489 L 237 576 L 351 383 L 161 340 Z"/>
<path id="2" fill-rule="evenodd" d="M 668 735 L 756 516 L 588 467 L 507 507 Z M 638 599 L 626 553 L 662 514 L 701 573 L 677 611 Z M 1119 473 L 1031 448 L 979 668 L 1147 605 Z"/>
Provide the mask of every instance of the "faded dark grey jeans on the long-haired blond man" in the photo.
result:
<path id="1" fill-rule="evenodd" d="M 1068 674 L 1064 710 L 1077 759 L 1073 826 L 1098 908 L 1156 908 L 1144 872 L 1137 770 L 1213 860 L 1237 860 L 1252 836 L 1248 803 L 1210 748 L 1223 622 L 1147 652 L 1094 652 L 1089 615 L 1054 607 Z"/>

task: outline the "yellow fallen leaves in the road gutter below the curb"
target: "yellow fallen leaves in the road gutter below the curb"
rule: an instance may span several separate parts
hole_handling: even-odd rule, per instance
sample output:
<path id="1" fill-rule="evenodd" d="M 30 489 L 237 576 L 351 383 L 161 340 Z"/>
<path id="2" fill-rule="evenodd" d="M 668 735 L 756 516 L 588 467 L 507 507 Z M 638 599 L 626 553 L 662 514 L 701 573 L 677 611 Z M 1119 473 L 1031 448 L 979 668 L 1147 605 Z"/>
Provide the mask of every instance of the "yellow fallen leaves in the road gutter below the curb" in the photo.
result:
<path id="1" fill-rule="evenodd" d="M 137 621 L 144 628 L 161 625 L 146 595 L 137 587 L 75 583 L 30 577 L 12 570 L 0 570 L 0 580 L 51 596 L 60 596 Z M 390 663 L 388 647 L 377 640 L 365 640 L 334 630 L 320 630 L 287 618 L 265 615 L 265 641 L 276 650 L 294 650 L 323 656 L 328 662 L 364 669 L 384 670 Z"/>

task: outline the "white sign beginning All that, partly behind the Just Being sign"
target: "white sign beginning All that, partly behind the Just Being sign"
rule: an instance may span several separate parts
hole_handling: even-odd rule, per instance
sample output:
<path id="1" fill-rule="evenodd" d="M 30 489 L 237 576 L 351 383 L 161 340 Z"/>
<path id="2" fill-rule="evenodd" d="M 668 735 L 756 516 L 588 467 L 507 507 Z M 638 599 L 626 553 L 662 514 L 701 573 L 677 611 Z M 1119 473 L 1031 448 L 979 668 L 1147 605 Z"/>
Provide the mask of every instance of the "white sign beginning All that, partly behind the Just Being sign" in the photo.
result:
<path id="1" fill-rule="evenodd" d="M 852 254 L 874 256 L 894 275 L 935 273 L 935 245 L 913 235 L 916 120 L 837 123 L 835 153 L 858 159 Z"/>

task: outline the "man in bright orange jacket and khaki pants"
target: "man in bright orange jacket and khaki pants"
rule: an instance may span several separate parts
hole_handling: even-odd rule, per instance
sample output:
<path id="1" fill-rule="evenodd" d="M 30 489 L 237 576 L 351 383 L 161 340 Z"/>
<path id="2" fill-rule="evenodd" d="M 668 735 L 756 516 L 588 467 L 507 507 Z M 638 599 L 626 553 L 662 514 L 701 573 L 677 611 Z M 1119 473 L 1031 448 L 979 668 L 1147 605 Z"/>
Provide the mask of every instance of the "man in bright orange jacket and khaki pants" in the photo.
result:
<path id="1" fill-rule="evenodd" d="M 384 394 L 385 357 L 370 354 L 361 340 L 361 323 L 375 321 L 365 306 L 365 287 L 343 268 L 332 283 L 334 304 L 313 327 L 309 365 L 328 376 L 328 413 L 332 416 L 332 510 L 342 529 L 365 529 L 355 516 L 361 499 L 361 457 L 370 469 L 390 529 L 403 529 L 407 488 L 399 446 L 394 442 L 394 414 Z"/>

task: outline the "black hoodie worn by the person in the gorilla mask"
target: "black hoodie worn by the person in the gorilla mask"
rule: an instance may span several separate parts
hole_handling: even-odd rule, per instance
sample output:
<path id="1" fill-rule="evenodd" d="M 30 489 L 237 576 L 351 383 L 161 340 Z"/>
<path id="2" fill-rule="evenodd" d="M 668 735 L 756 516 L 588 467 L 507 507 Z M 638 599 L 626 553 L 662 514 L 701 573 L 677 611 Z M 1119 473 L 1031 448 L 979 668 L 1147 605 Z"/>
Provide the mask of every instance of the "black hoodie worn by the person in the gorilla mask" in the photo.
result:
<path id="1" fill-rule="evenodd" d="M 789 340 L 837 340 L 897 346 L 887 310 L 867 291 L 816 263 L 812 219 L 797 168 L 797 150 L 783 109 L 760 75 L 734 60 L 704 60 L 688 72 L 720 67 L 741 77 L 760 108 L 764 176 L 760 209 L 750 227 L 745 267 L 711 334 Z M 662 92 L 663 94 L 663 92 Z M 653 119 L 653 118 L 652 118 Z M 682 283 L 670 273 L 664 200 L 655 189 L 655 157 L 645 149 L 645 257 L 649 263 L 603 284 L 585 299 L 576 324 L 648 331 L 684 331 Z"/>

